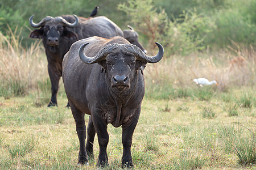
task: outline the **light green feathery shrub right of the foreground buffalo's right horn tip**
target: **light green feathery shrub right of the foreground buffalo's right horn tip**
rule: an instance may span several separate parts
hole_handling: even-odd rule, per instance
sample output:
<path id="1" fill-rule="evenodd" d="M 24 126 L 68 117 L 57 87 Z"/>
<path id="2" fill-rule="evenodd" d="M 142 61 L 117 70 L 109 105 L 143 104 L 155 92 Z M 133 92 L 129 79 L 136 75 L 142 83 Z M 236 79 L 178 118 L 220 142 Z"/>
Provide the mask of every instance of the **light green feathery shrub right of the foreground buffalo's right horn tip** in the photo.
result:
<path id="1" fill-rule="evenodd" d="M 163 35 L 163 44 L 168 46 L 168 54 L 189 54 L 203 50 L 207 46 L 204 39 L 216 27 L 213 20 L 197 14 L 197 11 L 183 11 L 180 18 L 168 23 L 168 29 Z M 168 38 L 167 38 L 168 37 Z"/>

